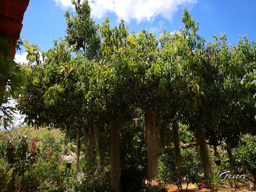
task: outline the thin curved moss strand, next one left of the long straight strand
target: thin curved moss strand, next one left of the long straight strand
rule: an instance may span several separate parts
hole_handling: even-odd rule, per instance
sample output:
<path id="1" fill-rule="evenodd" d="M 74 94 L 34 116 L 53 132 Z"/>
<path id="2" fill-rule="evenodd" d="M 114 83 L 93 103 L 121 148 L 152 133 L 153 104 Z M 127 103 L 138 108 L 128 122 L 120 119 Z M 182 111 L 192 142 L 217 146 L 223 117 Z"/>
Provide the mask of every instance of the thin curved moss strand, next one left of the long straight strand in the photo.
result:
<path id="1" fill-rule="evenodd" d="M 102 157 L 102 153 L 101 153 L 101 143 L 100 143 L 101 134 L 99 131 L 99 127 L 97 127 L 97 126 L 94 127 L 94 138 L 95 138 L 95 143 L 96 143 L 97 155 L 99 157 L 97 169 L 95 170 L 94 176 L 98 177 L 102 173 L 103 157 Z"/>

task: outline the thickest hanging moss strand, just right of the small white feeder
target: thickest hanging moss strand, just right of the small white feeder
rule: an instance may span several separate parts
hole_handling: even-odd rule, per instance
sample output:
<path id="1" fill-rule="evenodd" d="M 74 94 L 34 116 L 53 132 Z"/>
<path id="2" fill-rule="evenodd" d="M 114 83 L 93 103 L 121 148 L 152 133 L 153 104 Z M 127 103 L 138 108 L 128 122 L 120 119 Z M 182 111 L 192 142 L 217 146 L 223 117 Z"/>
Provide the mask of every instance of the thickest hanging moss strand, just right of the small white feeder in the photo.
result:
<path id="1" fill-rule="evenodd" d="M 154 180 L 158 175 L 159 132 L 156 126 L 155 113 L 147 105 L 143 110 L 148 152 L 148 177 L 150 180 Z"/>

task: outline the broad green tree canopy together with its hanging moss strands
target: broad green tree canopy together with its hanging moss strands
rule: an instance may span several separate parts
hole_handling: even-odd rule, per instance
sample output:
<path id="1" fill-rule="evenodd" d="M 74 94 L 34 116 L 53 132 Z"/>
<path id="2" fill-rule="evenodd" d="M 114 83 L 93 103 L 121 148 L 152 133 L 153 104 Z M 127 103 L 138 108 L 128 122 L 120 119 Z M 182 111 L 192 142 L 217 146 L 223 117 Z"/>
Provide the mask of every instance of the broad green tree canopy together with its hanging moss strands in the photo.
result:
<path id="1" fill-rule="evenodd" d="M 54 40 L 46 52 L 26 45 L 28 84 L 18 99 L 25 122 L 36 128 L 68 126 L 77 133 L 78 148 L 80 138 L 87 143 L 88 157 L 96 142 L 98 167 L 101 135 L 109 131 L 114 191 L 121 174 L 119 133 L 137 110 L 145 128 L 150 180 L 158 177 L 159 143 L 171 123 L 181 176 L 178 127 L 186 124 L 199 145 L 204 177 L 211 180 L 207 141 L 216 146 L 222 140 L 236 143 L 242 133 L 255 134 L 255 42 L 244 37 L 238 46 L 227 45 L 223 34 L 206 44 L 187 10 L 185 27 L 174 34 L 166 29 L 159 38 L 144 29 L 129 34 L 123 20 L 113 28 L 108 18 L 97 25 L 88 1 L 72 3 L 76 15 L 65 14 L 65 39 Z"/>

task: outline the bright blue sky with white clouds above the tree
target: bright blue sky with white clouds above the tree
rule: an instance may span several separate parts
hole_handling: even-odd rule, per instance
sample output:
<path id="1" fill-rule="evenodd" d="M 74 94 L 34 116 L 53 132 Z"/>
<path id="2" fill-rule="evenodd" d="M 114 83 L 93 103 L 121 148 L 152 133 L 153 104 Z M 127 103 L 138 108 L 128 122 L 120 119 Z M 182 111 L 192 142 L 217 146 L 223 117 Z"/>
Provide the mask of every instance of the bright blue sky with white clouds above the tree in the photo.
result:
<path id="1" fill-rule="evenodd" d="M 110 24 L 118 25 L 120 18 L 136 33 L 148 29 L 159 35 L 165 27 L 169 31 L 183 27 L 182 10 L 187 8 L 199 21 L 198 33 L 212 41 L 225 33 L 229 44 L 237 44 L 239 35 L 247 34 L 256 41 L 255 0 L 206 1 L 206 0 L 90 0 L 91 18 L 102 23 L 107 15 Z M 65 11 L 74 11 L 71 0 L 30 0 L 24 14 L 22 38 L 30 44 L 38 44 L 42 50 L 52 46 L 53 39 L 64 37 L 66 29 Z M 17 52 L 16 61 L 26 61 L 25 50 Z"/>

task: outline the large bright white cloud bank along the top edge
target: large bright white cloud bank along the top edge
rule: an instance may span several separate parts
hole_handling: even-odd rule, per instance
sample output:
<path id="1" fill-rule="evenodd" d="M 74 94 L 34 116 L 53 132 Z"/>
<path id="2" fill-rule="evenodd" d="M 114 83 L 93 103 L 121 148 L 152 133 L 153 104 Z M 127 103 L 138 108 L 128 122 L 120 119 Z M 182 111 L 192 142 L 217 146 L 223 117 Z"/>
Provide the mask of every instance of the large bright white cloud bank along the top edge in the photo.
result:
<path id="1" fill-rule="evenodd" d="M 71 0 L 54 1 L 63 9 L 73 7 Z M 89 0 L 93 18 L 102 18 L 108 12 L 114 12 L 118 19 L 123 18 L 126 22 L 135 19 L 138 23 L 152 21 L 158 15 L 170 21 L 180 6 L 196 3 L 197 0 Z"/>

